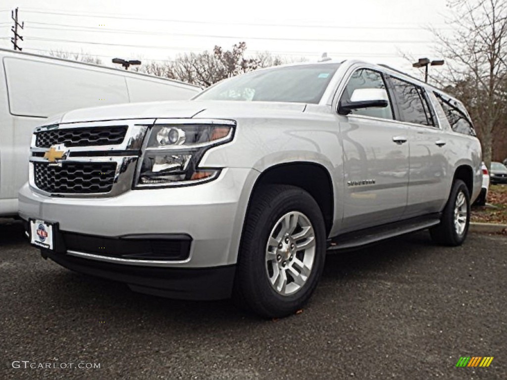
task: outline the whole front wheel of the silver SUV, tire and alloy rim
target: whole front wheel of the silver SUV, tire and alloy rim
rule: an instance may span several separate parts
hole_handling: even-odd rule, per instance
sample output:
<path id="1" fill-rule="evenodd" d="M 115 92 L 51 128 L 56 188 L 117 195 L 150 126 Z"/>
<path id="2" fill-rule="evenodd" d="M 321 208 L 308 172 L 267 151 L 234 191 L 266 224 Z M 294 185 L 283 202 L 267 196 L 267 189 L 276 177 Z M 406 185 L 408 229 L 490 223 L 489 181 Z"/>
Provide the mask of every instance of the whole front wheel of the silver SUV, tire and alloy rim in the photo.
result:
<path id="1" fill-rule="evenodd" d="M 256 190 L 245 220 L 233 297 L 267 318 L 301 309 L 325 258 L 325 224 L 317 202 L 288 185 Z"/>

